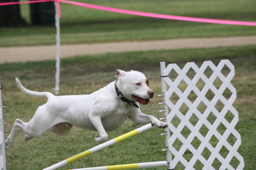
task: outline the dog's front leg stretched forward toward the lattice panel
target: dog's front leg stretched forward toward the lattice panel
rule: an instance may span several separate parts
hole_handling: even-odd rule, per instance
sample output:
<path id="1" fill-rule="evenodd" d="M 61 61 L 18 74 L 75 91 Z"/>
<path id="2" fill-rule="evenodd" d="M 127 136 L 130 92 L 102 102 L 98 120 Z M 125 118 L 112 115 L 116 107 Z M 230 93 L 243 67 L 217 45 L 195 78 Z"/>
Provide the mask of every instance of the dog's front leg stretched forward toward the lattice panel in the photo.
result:
<path id="1" fill-rule="evenodd" d="M 143 114 L 141 112 L 136 112 L 129 116 L 130 120 L 134 122 L 135 125 L 148 124 L 151 123 L 152 126 L 156 125 L 158 128 L 167 128 L 168 124 L 166 122 L 159 121 L 156 117 Z"/>

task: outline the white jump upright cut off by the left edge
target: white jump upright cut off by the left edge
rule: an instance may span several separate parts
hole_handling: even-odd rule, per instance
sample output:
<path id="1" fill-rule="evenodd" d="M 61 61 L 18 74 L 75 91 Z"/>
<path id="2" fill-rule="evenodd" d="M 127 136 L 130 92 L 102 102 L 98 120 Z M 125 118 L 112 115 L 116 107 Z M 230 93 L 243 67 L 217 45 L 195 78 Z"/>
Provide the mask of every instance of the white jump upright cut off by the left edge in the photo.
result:
<path id="1" fill-rule="evenodd" d="M 6 156 L 5 156 L 5 130 L 3 129 L 3 109 L 2 109 L 2 95 L 0 83 L 0 170 L 6 170 Z"/>

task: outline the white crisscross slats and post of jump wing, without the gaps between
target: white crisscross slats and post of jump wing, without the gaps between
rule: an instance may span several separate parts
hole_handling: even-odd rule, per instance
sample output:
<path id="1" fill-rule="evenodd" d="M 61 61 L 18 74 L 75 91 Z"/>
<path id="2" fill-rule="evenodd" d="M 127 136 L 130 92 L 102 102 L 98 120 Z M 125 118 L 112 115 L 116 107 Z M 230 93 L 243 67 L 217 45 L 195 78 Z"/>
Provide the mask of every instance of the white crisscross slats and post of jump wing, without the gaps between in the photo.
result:
<path id="1" fill-rule="evenodd" d="M 221 73 L 221 70 L 224 68 L 224 66 L 227 66 L 230 70 L 230 73 L 226 77 Z M 213 71 L 209 79 L 204 74 L 207 67 Z M 187 76 L 189 69 L 192 69 L 196 73 L 192 80 Z M 169 78 L 171 71 L 175 71 L 178 74 L 174 81 Z M 230 83 L 234 76 L 234 66 L 232 63 L 229 60 L 222 60 L 216 67 L 213 62 L 205 61 L 199 68 L 195 63 L 190 62 L 187 63 L 181 70 L 180 67 L 178 67 L 176 64 L 171 64 L 165 67 L 165 62 L 161 62 L 161 76 L 163 102 L 159 104 L 164 104 L 163 112 L 165 112 L 164 115 L 166 121 L 169 124 L 166 137 L 167 158 L 169 157 L 170 159 L 171 154 L 174 157 L 170 163 L 169 169 L 175 168 L 179 162 L 184 165 L 185 169 L 195 169 L 193 166 L 197 161 L 200 161 L 200 164 L 204 165 L 203 169 L 215 169 L 212 165 L 215 159 L 221 163 L 220 169 L 243 169 L 243 158 L 237 152 L 238 147 L 241 145 L 241 136 L 234 129 L 234 126 L 236 126 L 238 122 L 238 112 L 232 105 L 236 99 L 236 89 Z M 213 85 L 216 78 L 220 79 L 222 82 L 220 88 L 218 89 Z M 199 79 L 203 80 L 205 83 L 205 86 L 201 91 L 196 86 L 196 83 L 199 81 Z M 184 92 L 182 92 L 178 87 L 181 80 L 187 84 L 187 88 L 185 88 Z M 170 86 L 170 88 L 167 89 L 167 86 Z M 228 100 L 222 95 L 226 89 L 232 92 L 232 95 Z M 213 99 L 210 101 L 207 99 L 207 97 L 205 97 L 209 90 L 211 90 L 214 94 Z M 192 91 L 197 95 L 193 103 L 188 99 L 188 95 Z M 174 93 L 179 96 L 179 100 L 177 100 L 176 104 L 172 103 L 171 101 L 171 97 Z M 203 102 L 207 107 L 203 113 L 197 109 L 201 102 Z M 217 102 L 221 102 L 224 105 L 224 108 L 220 112 L 216 109 Z M 185 116 L 179 110 L 183 104 L 187 105 L 189 108 L 188 112 L 185 113 Z M 170 113 L 168 109 L 171 110 Z M 232 122 L 230 123 L 225 119 L 225 115 L 228 111 L 231 112 L 234 116 Z M 216 120 L 213 124 L 210 124 L 210 122 L 207 120 L 210 113 L 216 116 Z M 195 114 L 199 119 L 195 126 L 189 122 L 192 114 Z M 175 116 L 180 119 L 180 123 L 177 127 L 171 123 Z M 220 134 L 217 130 L 220 124 L 223 124 L 226 128 L 224 134 Z M 203 125 L 206 126 L 209 130 L 205 137 L 199 132 Z M 181 131 L 184 128 L 187 128 L 191 131 L 187 138 L 181 134 Z M 210 144 L 210 139 L 213 137 L 213 135 L 219 141 L 214 147 Z M 230 143 L 227 141 L 229 135 L 233 135 L 237 139 L 233 146 L 230 145 Z M 198 148 L 195 148 L 193 145 L 191 145 L 191 142 L 195 137 L 197 137 L 201 142 Z M 174 147 L 174 142 L 177 139 L 183 143 L 179 150 L 176 150 Z M 223 156 L 219 153 L 223 146 L 229 150 L 229 154 L 226 156 L 226 158 L 223 158 Z M 205 148 L 211 152 L 209 158 L 207 159 L 202 156 L 202 152 L 205 150 Z M 183 156 L 186 151 L 189 151 L 193 154 L 190 160 L 186 160 Z M 238 167 L 234 168 L 232 165 L 230 165 L 230 160 L 233 158 L 239 160 L 240 164 Z"/>

